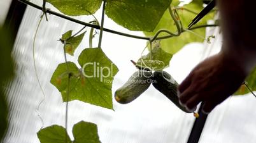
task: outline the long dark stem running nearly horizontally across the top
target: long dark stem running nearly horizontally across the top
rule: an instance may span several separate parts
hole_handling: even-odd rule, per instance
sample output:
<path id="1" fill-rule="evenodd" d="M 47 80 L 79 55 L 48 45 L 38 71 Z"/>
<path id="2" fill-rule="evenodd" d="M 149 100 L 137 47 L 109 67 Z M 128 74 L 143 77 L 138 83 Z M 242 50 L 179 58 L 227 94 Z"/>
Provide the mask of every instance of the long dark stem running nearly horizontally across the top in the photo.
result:
<path id="1" fill-rule="evenodd" d="M 18 1 L 20 1 L 22 3 L 25 3 L 25 4 L 29 5 L 29 6 L 32 6 L 32 7 L 36 8 L 36 9 L 39 9 L 39 10 L 43 9 L 41 6 L 38 6 L 38 5 L 36 5 L 34 3 L 31 3 L 30 1 L 27 1 L 27 0 L 18 0 Z M 46 9 L 45 12 L 49 13 L 51 15 L 58 16 L 60 18 L 64 18 L 64 19 L 69 20 L 71 22 L 78 23 L 80 25 L 85 25 L 87 27 L 92 27 L 92 28 L 100 29 L 99 25 L 92 25 L 90 23 L 85 23 L 85 22 L 82 22 L 80 20 L 76 20 L 75 18 L 71 18 L 69 16 L 62 15 L 60 13 L 56 13 L 54 11 L 51 11 L 50 9 Z M 200 25 L 200 26 L 197 26 L 197 27 L 190 28 L 190 30 L 193 30 L 193 29 L 196 29 L 196 28 L 217 27 L 217 26 L 218 25 Z M 118 31 L 111 30 L 111 29 L 108 29 L 108 28 L 103 28 L 103 31 L 110 32 L 112 34 L 122 35 L 122 36 L 125 36 L 125 37 L 131 37 L 131 38 L 134 38 L 134 39 L 150 40 L 150 37 L 143 37 L 143 36 L 138 36 L 138 35 L 125 34 L 123 32 L 118 32 Z M 181 30 L 181 32 L 185 32 L 185 31 Z M 168 39 L 168 38 L 171 38 L 171 37 L 173 37 L 173 36 L 172 35 L 167 35 L 167 36 L 157 37 L 155 40 Z"/>

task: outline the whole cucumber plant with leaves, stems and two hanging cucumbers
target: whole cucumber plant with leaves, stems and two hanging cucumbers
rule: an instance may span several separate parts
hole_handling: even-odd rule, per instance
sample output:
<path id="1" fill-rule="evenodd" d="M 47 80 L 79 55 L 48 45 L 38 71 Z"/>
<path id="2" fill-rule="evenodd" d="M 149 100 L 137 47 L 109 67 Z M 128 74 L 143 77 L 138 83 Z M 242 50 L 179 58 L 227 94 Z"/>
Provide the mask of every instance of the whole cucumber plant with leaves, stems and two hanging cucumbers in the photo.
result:
<path id="1" fill-rule="evenodd" d="M 57 69 L 54 71 L 50 82 L 60 91 L 62 101 L 66 102 L 66 128 L 58 125 L 53 125 L 46 128 L 42 127 L 38 132 L 38 138 L 41 142 L 101 142 L 97 136 L 97 126 L 93 123 L 85 123 L 82 121 L 76 124 L 73 127 L 73 134 L 75 137 L 74 141 L 70 140 L 66 130 L 68 130 L 68 103 L 73 100 L 79 100 L 95 106 L 113 109 L 112 82 L 113 77 L 115 77 L 118 72 L 118 68 L 101 49 L 103 31 L 146 40 L 148 44 L 150 44 L 150 46 L 148 46 L 148 44 L 146 46 L 149 49 L 149 54 L 139 58 L 138 62 L 136 63 L 136 67 L 139 67 L 141 70 L 134 73 L 145 73 L 146 76 L 131 77 L 129 80 L 157 80 L 158 82 L 153 83 L 153 86 L 166 95 L 181 110 L 187 112 L 180 106 L 180 104 L 178 104 L 177 101 L 176 88 L 178 84 L 173 82 L 174 80 L 171 80 L 171 76 L 162 70 L 169 66 L 169 61 L 171 60 L 173 54 L 179 51 L 181 47 L 185 46 L 185 44 L 190 42 L 203 42 L 204 40 L 208 41 L 207 39 L 204 39 L 205 27 L 218 26 L 215 24 L 207 25 L 206 23 L 207 20 L 212 19 L 215 15 L 214 10 L 210 13 L 210 15 L 207 15 L 203 20 L 197 23 L 195 27 L 190 29 L 185 28 L 187 27 L 188 23 L 190 23 L 192 18 L 194 18 L 197 13 L 203 9 L 203 1 L 193 0 L 191 3 L 181 6 L 179 0 L 43 0 L 42 8 L 36 6 L 28 0 L 20 1 L 43 10 L 43 16 L 50 13 L 52 15 L 60 16 L 66 20 L 71 20 L 72 22 L 76 22 L 91 28 L 89 39 L 90 48 L 85 48 L 80 54 L 78 58 L 80 67 L 76 66 L 72 61 L 68 61 L 66 54 L 68 53 L 70 56 L 73 56 L 73 53 L 76 51 L 76 47 L 78 47 L 80 42 L 83 40 L 83 36 L 89 32 L 82 32 L 82 29 L 76 34 L 72 35 L 72 31 L 69 30 L 63 34 L 62 38 L 60 39 L 60 41 L 64 44 L 63 50 L 65 62 L 60 63 L 57 66 Z M 46 3 L 52 4 L 60 11 L 60 13 L 47 9 Z M 94 16 L 93 14 L 101 7 L 101 5 L 103 7 L 101 23 L 99 23 L 97 20 L 96 22 L 85 23 L 69 17 L 80 15 Z M 142 31 L 146 36 L 141 37 L 138 35 L 125 34 L 115 30 L 103 28 L 104 13 L 106 13 L 109 18 L 122 27 L 129 30 Z M 39 23 L 41 23 L 41 20 Z M 94 29 L 99 29 L 100 34 L 98 46 L 92 48 Z M 38 31 L 38 28 L 36 31 Z M 33 53 L 34 52 L 35 51 L 33 48 Z M 104 76 L 108 73 L 106 68 L 99 68 L 101 69 L 102 75 L 96 74 L 94 76 L 94 65 L 88 65 L 87 63 L 96 63 L 96 66 L 101 65 L 107 68 L 113 67 L 111 74 L 112 76 Z M 36 71 L 36 61 L 34 61 L 34 67 Z M 145 67 L 149 71 L 143 70 Z M 153 77 L 151 77 L 152 73 Z M 37 79 L 41 87 L 39 78 L 37 77 Z M 255 81 L 255 75 L 252 75 L 252 77 L 247 80 L 248 85 L 250 85 L 252 90 L 256 90 Z M 129 103 L 148 89 L 150 84 L 150 82 L 138 84 L 128 81 L 122 87 L 120 87 L 117 92 L 115 92 L 115 99 L 119 103 Z M 41 90 L 43 92 L 42 88 Z M 245 94 L 247 92 L 248 91 L 245 90 L 245 92 L 239 93 Z M 94 128 L 94 130 L 90 130 L 90 128 Z M 85 134 L 83 137 L 78 139 L 76 136 L 76 133 L 78 132 L 85 132 Z"/>

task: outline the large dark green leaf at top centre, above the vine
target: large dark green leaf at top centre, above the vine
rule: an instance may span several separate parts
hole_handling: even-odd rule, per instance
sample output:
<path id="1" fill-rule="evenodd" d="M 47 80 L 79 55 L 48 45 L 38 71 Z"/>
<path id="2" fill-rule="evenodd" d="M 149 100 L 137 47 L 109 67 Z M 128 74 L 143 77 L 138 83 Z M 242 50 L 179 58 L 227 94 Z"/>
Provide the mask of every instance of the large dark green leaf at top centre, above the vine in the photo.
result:
<path id="1" fill-rule="evenodd" d="M 153 31 L 169 0 L 107 0 L 106 15 L 129 30 Z"/>

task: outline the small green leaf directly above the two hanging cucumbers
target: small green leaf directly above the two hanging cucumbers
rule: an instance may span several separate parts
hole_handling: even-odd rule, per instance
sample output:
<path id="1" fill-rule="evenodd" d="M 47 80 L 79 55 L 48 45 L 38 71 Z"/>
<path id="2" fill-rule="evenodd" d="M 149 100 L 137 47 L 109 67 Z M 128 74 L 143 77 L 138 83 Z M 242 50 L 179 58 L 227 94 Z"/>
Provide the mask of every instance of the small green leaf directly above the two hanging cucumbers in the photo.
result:
<path id="1" fill-rule="evenodd" d="M 139 58 L 136 66 L 150 68 L 152 70 L 162 70 L 169 66 L 169 62 L 173 55 L 163 51 L 159 45 L 159 42 L 153 42 L 152 44 L 152 54 L 148 53 L 146 56 Z M 152 59 L 150 59 L 151 55 Z"/>

